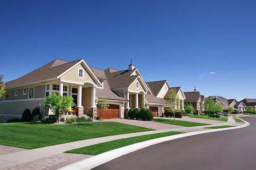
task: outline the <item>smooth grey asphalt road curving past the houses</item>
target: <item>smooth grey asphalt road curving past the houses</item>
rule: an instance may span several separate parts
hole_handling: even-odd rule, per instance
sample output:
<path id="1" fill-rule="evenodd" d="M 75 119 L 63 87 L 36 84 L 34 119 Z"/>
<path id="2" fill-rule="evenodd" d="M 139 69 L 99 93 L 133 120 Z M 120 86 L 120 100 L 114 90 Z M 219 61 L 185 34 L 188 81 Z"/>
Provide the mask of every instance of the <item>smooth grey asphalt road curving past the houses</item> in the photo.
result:
<path id="1" fill-rule="evenodd" d="M 94 169 L 256 169 L 256 116 L 250 126 L 166 141 Z"/>

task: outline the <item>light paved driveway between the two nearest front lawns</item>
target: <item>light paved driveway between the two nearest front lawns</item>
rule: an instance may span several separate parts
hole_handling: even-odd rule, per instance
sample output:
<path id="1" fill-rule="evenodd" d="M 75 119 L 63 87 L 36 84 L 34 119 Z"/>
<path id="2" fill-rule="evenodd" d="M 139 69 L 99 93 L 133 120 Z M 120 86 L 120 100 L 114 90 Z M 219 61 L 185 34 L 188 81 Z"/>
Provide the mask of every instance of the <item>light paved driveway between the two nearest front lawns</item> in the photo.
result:
<path id="1" fill-rule="evenodd" d="M 140 126 L 140 127 L 145 127 L 149 129 L 155 129 L 155 130 L 174 129 L 174 128 L 183 127 L 183 126 L 177 126 L 177 125 L 162 124 L 154 121 L 142 121 L 142 120 L 131 120 L 131 119 L 105 119 L 104 121 L 119 122 L 121 124 Z"/>

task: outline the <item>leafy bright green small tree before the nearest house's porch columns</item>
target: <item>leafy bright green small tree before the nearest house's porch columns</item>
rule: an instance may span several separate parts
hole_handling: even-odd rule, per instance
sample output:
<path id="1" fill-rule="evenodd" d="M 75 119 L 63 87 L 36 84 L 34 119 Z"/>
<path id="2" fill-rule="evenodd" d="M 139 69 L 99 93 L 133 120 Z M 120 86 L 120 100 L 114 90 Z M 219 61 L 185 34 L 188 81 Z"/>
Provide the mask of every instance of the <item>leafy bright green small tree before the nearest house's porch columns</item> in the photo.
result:
<path id="1" fill-rule="evenodd" d="M 56 93 L 52 93 L 52 95 L 43 99 L 46 105 L 45 108 L 51 109 L 54 112 L 57 122 L 60 121 L 60 117 L 64 115 L 65 111 L 69 109 L 70 106 L 75 106 L 73 100 L 74 99 L 70 96 L 61 97 Z"/>

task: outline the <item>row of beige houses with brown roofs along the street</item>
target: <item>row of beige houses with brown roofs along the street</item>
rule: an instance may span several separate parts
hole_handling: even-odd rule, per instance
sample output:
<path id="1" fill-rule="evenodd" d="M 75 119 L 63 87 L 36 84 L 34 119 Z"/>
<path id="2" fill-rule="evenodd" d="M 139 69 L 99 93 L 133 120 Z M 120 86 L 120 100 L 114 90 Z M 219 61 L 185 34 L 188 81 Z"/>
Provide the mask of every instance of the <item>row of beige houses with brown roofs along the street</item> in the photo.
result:
<path id="1" fill-rule="evenodd" d="M 101 98 L 107 98 L 109 104 L 104 119 L 125 118 L 130 108 L 149 108 L 154 116 L 162 116 L 172 89 L 180 100 L 176 109 L 184 110 L 185 105 L 192 105 L 197 114 L 204 112 L 205 97 L 196 89 L 183 92 L 181 87 L 171 87 L 167 80 L 146 82 L 132 62 L 127 70 L 101 70 L 89 67 L 84 59 L 72 62 L 57 59 L 6 82 L 5 87 L 5 96 L 0 99 L 0 122 L 20 118 L 24 109 L 35 107 L 40 109 L 42 117 L 49 117 L 52 112 L 45 110 L 43 98 L 52 93 L 72 96 L 78 116 L 98 116 L 97 102 Z M 238 111 L 251 103 L 251 100 L 239 104 L 234 101 L 231 105 Z M 226 106 L 222 98 L 217 98 L 216 102 Z"/>

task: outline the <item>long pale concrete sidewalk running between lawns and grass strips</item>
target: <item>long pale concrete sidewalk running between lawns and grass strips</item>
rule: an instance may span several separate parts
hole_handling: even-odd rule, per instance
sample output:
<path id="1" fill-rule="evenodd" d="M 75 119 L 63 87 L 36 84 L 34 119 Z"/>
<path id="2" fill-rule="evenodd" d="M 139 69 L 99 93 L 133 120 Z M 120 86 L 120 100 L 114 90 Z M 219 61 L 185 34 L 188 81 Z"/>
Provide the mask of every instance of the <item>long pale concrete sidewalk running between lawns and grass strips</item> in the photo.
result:
<path id="1" fill-rule="evenodd" d="M 42 148 L 37 148 L 37 149 L 24 150 L 21 152 L 0 155 L 0 169 L 6 168 L 9 166 L 14 166 L 17 164 L 31 162 L 32 160 L 37 160 L 37 159 L 44 158 L 44 157 L 61 154 L 68 150 L 81 148 L 81 147 L 85 147 L 85 146 L 90 146 L 90 145 L 95 145 L 95 144 L 104 143 L 107 141 L 112 141 L 112 140 L 117 140 L 117 139 L 122 139 L 122 138 L 164 133 L 167 131 L 183 131 L 183 132 L 202 131 L 202 130 L 207 130 L 207 129 L 204 129 L 205 127 L 223 126 L 223 125 L 238 126 L 238 125 L 242 125 L 242 124 L 243 123 L 222 122 L 220 124 L 196 126 L 196 127 L 178 126 L 178 128 L 154 130 L 154 131 L 144 131 L 144 132 L 139 132 L 139 133 L 131 133 L 131 134 L 123 134 L 123 135 L 106 136 L 106 137 L 100 137 L 100 138 L 74 141 L 74 142 L 70 142 L 70 143 L 66 143 L 66 144 L 42 147 Z"/>

